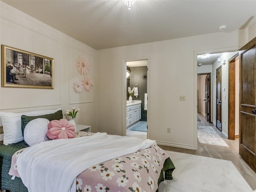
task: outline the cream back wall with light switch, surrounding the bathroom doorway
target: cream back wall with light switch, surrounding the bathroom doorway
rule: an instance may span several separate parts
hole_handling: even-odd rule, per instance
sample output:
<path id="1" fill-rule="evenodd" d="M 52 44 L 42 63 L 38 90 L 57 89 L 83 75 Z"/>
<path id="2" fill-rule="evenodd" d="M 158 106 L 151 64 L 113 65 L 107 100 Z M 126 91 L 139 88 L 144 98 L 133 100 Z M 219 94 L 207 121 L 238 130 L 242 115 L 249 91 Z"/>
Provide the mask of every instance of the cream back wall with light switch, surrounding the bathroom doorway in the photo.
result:
<path id="1" fill-rule="evenodd" d="M 122 135 L 122 60 L 148 57 L 150 139 L 170 146 L 195 148 L 195 54 L 228 47 L 234 50 L 247 41 L 248 30 L 245 29 L 100 50 L 98 130 Z M 185 95 L 186 101 L 179 101 L 179 95 Z M 171 128 L 170 134 L 167 128 Z"/>

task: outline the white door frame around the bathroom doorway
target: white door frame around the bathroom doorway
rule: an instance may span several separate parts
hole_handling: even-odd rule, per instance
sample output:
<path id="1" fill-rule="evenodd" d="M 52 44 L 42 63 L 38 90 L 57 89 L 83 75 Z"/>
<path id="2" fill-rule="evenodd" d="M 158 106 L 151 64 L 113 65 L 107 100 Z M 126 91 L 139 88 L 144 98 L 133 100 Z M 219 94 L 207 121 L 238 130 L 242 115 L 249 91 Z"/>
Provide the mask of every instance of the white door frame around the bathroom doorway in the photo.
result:
<path id="1" fill-rule="evenodd" d="M 150 57 L 140 58 L 124 58 L 122 59 L 122 136 L 126 136 L 126 62 L 148 60 L 147 72 L 147 93 L 148 93 L 148 106 L 147 106 L 147 138 L 150 138 Z"/>

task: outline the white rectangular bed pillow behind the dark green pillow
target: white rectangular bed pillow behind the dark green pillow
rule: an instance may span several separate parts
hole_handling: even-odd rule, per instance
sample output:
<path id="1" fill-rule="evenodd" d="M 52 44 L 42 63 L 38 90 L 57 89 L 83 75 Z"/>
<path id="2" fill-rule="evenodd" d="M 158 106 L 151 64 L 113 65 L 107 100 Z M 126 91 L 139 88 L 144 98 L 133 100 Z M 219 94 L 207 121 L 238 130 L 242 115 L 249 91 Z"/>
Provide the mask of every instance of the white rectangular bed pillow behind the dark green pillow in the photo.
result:
<path id="1" fill-rule="evenodd" d="M 23 141 L 24 138 L 21 132 L 21 116 L 37 116 L 52 114 L 61 110 L 61 108 L 53 110 L 30 111 L 23 113 L 0 112 L 0 126 L 3 126 L 4 131 L 4 145 L 17 143 Z"/>

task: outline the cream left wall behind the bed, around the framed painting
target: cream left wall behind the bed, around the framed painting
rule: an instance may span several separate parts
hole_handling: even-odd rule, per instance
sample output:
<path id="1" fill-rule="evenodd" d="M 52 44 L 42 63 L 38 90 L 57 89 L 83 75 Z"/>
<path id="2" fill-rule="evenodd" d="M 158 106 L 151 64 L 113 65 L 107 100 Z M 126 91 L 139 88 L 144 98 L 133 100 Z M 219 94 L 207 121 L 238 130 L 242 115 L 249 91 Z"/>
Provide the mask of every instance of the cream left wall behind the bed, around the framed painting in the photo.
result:
<path id="1" fill-rule="evenodd" d="M 53 108 L 80 108 L 78 124 L 97 131 L 97 52 L 62 32 L 47 26 L 0 1 L 0 44 L 54 58 L 54 89 L 0 87 L 0 110 L 23 112 Z M 93 102 L 69 104 L 69 47 L 93 57 Z"/>

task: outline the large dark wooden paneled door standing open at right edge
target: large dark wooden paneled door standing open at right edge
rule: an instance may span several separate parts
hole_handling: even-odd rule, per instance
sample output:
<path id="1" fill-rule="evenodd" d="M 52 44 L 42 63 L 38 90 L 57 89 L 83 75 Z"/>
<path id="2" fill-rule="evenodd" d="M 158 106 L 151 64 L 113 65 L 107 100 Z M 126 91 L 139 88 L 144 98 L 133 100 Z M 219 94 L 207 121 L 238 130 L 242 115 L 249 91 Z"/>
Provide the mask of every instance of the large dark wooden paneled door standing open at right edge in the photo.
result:
<path id="1" fill-rule="evenodd" d="M 239 154 L 256 171 L 256 38 L 239 50 Z"/>

